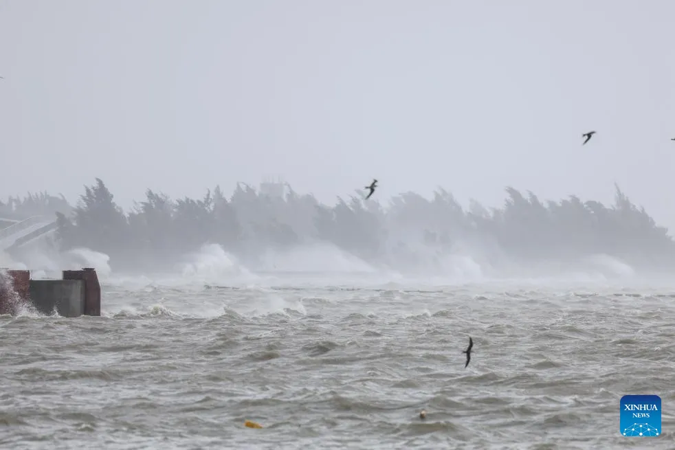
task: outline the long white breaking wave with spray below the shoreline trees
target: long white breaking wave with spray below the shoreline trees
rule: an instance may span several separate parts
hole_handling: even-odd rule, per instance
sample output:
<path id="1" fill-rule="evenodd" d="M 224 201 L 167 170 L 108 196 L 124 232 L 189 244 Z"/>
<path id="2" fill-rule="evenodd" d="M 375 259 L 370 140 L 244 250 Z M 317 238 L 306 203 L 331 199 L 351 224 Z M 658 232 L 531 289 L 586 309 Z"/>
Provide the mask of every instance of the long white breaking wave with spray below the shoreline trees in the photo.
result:
<path id="1" fill-rule="evenodd" d="M 640 280 L 628 263 L 597 254 L 571 262 L 542 262 L 535 267 L 516 263 L 496 269 L 481 254 L 467 249 L 453 254 L 434 254 L 423 247 L 409 250 L 406 267 L 386 264 L 373 265 L 329 243 L 302 245 L 285 250 L 268 250 L 261 258 L 245 265 L 221 245 L 203 245 L 199 251 L 186 254 L 173 271 L 164 273 L 115 272 L 109 256 L 87 248 L 63 253 L 32 249 L 14 260 L 0 254 L 0 267 L 30 269 L 34 279 L 60 278 L 64 269 L 93 267 L 103 283 L 126 285 L 131 289 L 146 286 L 250 286 L 275 284 L 321 284 L 365 286 L 461 285 L 496 280 L 530 280 L 537 282 L 577 281 L 602 282 L 609 280 Z M 648 277 L 647 277 L 648 278 Z"/>

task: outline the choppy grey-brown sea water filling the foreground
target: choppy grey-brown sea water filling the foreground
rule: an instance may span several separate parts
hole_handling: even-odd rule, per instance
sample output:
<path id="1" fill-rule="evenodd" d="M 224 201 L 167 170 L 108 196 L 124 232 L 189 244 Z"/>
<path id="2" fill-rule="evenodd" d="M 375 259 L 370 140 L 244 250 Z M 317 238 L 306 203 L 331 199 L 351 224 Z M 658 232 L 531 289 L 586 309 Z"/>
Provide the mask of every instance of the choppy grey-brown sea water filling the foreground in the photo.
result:
<path id="1" fill-rule="evenodd" d="M 675 282 L 103 289 L 102 317 L 0 318 L 0 447 L 675 448 Z M 661 396 L 661 436 L 619 434 L 624 394 Z"/>

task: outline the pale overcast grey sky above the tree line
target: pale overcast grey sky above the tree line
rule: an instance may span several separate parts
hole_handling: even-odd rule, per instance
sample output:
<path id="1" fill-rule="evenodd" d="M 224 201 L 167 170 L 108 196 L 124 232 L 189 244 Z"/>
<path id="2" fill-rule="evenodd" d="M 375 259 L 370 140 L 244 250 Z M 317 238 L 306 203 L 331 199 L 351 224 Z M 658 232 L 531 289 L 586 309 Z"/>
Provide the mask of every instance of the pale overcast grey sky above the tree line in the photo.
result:
<path id="1" fill-rule="evenodd" d="M 443 185 L 675 225 L 675 2 L 0 1 L 0 197 Z M 597 135 L 582 146 L 582 133 Z"/>

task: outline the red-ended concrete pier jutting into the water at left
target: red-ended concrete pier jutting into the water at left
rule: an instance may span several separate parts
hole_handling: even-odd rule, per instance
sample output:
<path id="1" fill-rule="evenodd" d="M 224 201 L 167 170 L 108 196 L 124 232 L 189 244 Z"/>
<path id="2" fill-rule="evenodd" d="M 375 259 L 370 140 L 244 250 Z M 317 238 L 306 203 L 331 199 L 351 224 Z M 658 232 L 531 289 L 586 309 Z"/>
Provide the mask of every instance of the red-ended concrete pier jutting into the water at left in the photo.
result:
<path id="1" fill-rule="evenodd" d="M 32 304 L 43 314 L 101 315 L 101 286 L 91 268 L 63 271 L 62 280 L 31 280 L 30 271 L 0 271 L 0 314 L 16 314 Z"/>

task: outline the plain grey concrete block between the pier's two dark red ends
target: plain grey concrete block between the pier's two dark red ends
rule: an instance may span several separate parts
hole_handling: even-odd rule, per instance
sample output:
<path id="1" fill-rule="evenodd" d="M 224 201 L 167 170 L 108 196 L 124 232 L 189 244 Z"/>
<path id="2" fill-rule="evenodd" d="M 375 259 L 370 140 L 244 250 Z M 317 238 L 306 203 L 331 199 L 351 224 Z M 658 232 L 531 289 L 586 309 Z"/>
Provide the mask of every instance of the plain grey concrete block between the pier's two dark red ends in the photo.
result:
<path id="1" fill-rule="evenodd" d="M 56 311 L 63 317 L 85 313 L 84 280 L 31 280 L 30 300 L 43 314 Z"/>

